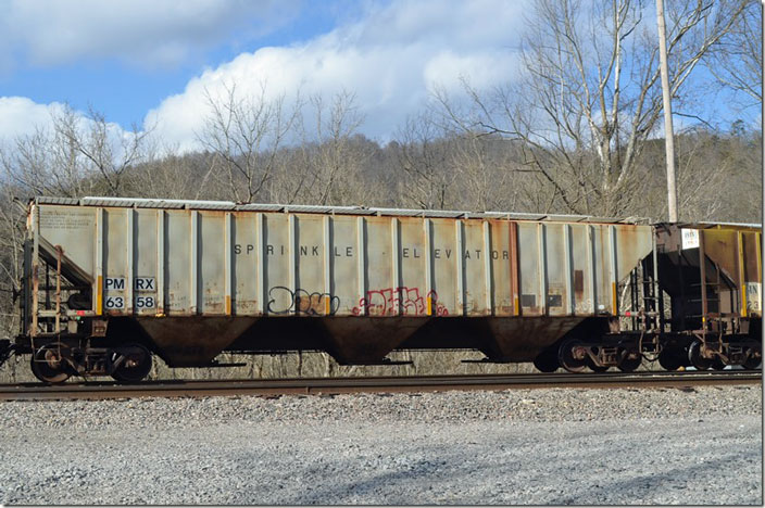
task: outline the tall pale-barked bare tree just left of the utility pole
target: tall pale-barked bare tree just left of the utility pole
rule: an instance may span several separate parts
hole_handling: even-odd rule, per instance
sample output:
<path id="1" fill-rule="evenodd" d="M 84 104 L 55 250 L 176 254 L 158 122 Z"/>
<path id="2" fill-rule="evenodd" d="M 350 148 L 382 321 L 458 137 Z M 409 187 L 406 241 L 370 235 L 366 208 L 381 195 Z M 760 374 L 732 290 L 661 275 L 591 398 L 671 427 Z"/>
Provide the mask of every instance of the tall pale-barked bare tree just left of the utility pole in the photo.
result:
<path id="1" fill-rule="evenodd" d="M 643 7 L 634 0 L 538 0 L 523 42 L 523 78 L 489 96 L 466 84 L 469 118 L 457 118 L 449 98 L 437 94 L 444 116 L 522 141 L 525 170 L 554 196 L 550 209 L 628 214 L 645 192 L 637 162 L 662 111 L 655 30 L 643 21 Z M 742 9 L 742 0 L 672 4 L 673 96 L 680 96 Z"/>

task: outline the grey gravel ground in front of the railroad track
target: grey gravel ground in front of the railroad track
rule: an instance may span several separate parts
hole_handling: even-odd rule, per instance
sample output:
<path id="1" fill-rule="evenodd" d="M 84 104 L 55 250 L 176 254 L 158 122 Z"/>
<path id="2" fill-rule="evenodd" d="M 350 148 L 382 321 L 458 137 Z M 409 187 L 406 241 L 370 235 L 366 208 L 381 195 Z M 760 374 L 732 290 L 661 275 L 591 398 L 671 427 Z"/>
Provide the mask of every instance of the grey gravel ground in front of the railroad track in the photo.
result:
<path id="1" fill-rule="evenodd" d="M 0 504 L 762 505 L 762 388 L 0 403 Z"/>

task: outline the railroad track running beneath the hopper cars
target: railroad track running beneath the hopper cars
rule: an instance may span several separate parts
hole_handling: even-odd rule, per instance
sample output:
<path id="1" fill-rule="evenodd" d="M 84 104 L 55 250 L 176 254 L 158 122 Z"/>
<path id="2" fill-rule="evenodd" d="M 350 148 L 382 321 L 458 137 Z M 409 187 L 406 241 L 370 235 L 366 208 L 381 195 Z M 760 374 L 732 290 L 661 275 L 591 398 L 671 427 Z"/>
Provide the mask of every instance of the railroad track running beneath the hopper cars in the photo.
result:
<path id="1" fill-rule="evenodd" d="M 441 392 L 539 388 L 692 388 L 758 384 L 760 370 L 684 372 L 606 372 L 553 374 L 426 376 L 374 378 L 306 378 L 275 380 L 148 381 L 0 384 L 3 401 L 102 399 L 133 397 L 200 397 L 231 395 L 330 395 L 342 393 Z"/>

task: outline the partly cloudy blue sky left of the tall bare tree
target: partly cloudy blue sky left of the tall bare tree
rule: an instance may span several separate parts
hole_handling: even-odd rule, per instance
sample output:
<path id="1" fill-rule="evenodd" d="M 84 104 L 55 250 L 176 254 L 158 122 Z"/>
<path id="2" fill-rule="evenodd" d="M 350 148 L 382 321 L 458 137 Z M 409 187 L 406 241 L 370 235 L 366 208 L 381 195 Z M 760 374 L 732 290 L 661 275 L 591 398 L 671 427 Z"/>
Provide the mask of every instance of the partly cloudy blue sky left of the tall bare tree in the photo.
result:
<path id="1" fill-rule="evenodd" d="M 518 74 L 530 0 L 0 0 L 0 139 L 68 103 L 197 147 L 205 94 L 355 94 L 360 131 L 391 138 L 434 87 Z"/>

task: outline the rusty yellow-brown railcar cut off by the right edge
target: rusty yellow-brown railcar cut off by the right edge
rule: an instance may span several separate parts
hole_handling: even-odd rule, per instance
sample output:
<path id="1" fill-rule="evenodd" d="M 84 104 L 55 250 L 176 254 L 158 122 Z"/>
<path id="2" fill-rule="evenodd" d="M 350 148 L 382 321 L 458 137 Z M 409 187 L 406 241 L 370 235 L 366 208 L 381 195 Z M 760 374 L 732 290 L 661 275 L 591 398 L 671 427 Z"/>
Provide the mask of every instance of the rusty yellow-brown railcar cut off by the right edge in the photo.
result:
<path id="1" fill-rule="evenodd" d="M 663 295 L 655 306 L 660 364 L 668 370 L 756 368 L 763 341 L 762 226 L 659 224 L 655 236 Z"/>

